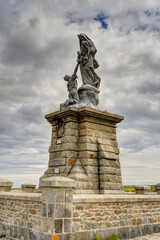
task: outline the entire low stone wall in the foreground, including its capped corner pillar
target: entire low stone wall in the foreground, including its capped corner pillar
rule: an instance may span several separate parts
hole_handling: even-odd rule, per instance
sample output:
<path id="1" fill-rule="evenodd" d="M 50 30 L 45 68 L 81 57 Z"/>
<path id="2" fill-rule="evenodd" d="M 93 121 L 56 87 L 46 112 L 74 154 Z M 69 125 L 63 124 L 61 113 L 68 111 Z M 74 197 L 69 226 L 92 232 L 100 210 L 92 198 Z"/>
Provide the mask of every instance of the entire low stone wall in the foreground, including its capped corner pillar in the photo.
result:
<path id="1" fill-rule="evenodd" d="M 160 232 L 160 195 L 74 194 L 66 177 L 42 181 L 42 193 L 0 193 L 0 234 L 23 240 L 127 239 Z"/>

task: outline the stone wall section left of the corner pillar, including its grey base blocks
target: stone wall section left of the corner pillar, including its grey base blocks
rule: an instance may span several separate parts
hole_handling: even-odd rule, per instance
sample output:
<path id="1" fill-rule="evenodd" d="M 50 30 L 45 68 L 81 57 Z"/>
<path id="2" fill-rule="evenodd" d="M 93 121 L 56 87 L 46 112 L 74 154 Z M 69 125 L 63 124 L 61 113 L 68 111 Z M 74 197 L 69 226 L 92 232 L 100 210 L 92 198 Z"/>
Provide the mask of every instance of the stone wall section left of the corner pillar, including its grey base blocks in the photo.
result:
<path id="1" fill-rule="evenodd" d="M 40 193 L 1 192 L 0 234 L 24 240 L 52 240 L 52 235 L 39 229 L 41 205 Z"/>

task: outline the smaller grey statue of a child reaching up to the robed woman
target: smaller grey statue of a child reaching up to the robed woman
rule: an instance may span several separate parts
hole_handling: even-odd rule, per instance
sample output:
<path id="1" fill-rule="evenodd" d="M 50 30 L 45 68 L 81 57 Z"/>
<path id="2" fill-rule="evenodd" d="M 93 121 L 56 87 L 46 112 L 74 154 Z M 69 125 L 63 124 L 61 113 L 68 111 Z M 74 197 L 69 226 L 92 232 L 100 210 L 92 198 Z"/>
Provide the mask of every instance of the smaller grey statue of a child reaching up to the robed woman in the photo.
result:
<path id="1" fill-rule="evenodd" d="M 79 97 L 78 97 L 78 91 L 77 91 L 77 75 L 75 72 L 72 74 L 72 76 L 65 75 L 64 80 L 67 81 L 67 89 L 69 91 L 68 99 L 60 104 L 60 109 L 67 108 L 69 105 L 73 105 L 78 103 Z"/>

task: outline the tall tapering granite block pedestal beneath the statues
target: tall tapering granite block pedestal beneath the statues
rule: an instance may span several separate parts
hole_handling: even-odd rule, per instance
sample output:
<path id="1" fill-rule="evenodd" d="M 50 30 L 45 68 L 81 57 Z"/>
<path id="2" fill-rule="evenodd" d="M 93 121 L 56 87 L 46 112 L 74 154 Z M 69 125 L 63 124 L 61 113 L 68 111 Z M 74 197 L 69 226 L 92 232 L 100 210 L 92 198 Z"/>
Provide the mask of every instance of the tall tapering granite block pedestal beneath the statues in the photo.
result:
<path id="1" fill-rule="evenodd" d="M 90 107 L 69 107 L 46 115 L 52 125 L 48 169 L 42 178 L 76 181 L 76 193 L 122 190 L 116 124 L 122 116 Z"/>

